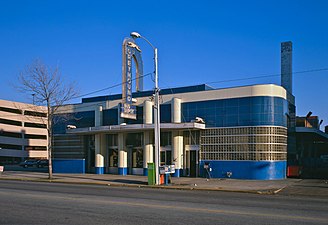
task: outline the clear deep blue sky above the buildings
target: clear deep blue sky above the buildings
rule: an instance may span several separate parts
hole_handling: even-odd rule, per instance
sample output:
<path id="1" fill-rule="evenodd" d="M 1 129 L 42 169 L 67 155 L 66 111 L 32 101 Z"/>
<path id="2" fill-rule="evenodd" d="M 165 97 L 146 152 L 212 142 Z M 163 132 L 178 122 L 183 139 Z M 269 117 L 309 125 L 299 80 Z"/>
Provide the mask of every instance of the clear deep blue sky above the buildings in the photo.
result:
<path id="1" fill-rule="evenodd" d="M 279 74 L 283 41 L 293 42 L 294 72 L 328 68 L 327 12 L 325 0 L 2 0 L 0 98 L 32 101 L 11 83 L 35 58 L 59 64 L 81 95 L 121 83 L 121 46 L 131 31 L 158 48 L 161 88 Z M 142 40 L 138 44 L 144 72 L 152 72 L 152 49 Z M 280 77 L 211 85 L 258 83 L 280 84 Z M 145 88 L 152 87 L 147 77 Z M 295 74 L 293 87 L 297 115 L 311 110 L 328 125 L 328 70 Z"/>

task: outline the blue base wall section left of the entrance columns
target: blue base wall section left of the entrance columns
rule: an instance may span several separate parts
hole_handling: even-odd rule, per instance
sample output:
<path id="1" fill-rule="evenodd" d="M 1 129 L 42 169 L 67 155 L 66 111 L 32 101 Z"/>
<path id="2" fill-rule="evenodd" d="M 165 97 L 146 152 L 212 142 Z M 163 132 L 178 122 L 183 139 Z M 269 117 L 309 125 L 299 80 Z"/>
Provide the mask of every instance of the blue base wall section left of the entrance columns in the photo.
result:
<path id="1" fill-rule="evenodd" d="M 53 159 L 54 173 L 85 173 L 84 159 Z"/>

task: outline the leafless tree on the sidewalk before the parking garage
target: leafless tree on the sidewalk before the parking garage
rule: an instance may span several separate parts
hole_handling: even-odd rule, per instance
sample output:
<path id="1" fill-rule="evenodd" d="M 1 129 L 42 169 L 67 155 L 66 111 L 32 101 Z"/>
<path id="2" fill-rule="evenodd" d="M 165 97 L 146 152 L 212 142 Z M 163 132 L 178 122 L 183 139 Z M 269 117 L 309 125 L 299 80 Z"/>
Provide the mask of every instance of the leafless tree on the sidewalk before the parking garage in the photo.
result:
<path id="1" fill-rule="evenodd" d="M 27 65 L 19 74 L 19 89 L 33 94 L 36 105 L 47 107 L 49 179 L 52 179 L 53 119 L 65 102 L 77 96 L 73 83 L 65 84 L 58 66 L 50 67 L 40 59 Z"/>

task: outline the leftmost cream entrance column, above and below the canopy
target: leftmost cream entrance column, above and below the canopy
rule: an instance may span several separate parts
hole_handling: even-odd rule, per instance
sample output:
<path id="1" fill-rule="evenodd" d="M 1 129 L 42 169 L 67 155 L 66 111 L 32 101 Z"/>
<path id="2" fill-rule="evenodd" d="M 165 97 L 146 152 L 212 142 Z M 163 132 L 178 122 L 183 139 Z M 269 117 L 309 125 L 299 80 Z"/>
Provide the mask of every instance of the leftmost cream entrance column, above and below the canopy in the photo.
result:
<path id="1" fill-rule="evenodd" d="M 95 126 L 102 126 L 102 106 L 97 106 L 95 110 Z M 104 134 L 95 134 L 95 172 L 104 174 L 104 155 L 106 152 L 106 136 Z"/>

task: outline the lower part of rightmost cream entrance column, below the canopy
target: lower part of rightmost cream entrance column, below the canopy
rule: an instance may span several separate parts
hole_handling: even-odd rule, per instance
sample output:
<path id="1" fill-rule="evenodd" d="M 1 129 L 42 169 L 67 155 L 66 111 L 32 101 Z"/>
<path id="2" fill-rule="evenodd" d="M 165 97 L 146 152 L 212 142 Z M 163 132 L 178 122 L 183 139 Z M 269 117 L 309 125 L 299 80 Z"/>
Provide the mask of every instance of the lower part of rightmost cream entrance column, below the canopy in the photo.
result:
<path id="1" fill-rule="evenodd" d="M 183 132 L 172 131 L 172 162 L 175 165 L 174 177 L 180 177 L 183 174 Z"/>

